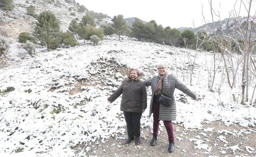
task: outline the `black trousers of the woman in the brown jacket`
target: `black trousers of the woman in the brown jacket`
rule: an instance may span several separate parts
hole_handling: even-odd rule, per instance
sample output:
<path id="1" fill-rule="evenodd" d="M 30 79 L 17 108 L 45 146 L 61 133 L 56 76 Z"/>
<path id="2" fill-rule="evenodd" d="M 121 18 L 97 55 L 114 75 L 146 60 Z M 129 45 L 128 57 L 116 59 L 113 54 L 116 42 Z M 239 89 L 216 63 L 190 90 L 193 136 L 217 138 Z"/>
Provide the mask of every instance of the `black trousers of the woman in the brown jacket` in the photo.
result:
<path id="1" fill-rule="evenodd" d="M 128 137 L 140 137 L 140 118 L 142 113 L 124 111 Z"/>

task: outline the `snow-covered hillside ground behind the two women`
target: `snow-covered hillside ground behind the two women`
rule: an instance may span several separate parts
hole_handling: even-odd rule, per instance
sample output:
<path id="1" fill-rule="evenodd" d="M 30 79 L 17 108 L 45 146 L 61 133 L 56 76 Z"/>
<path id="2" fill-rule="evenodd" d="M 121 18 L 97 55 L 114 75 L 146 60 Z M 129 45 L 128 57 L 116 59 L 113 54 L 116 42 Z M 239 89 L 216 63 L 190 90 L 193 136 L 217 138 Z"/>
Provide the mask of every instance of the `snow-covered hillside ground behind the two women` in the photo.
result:
<path id="1" fill-rule="evenodd" d="M 220 120 L 226 125 L 255 127 L 256 108 L 239 104 L 241 70 L 236 88 L 231 91 L 226 78 L 221 83 L 223 65 L 220 64 L 211 92 L 208 89 L 208 70 L 213 67 L 211 53 L 196 53 L 190 86 L 186 49 L 122 38 L 118 41 L 115 36 L 108 37 L 96 46 L 80 41 L 81 46 L 49 52 L 38 48 L 33 58 L 18 46 L 19 43 L 13 43 L 7 57 L 14 64 L 0 69 L 0 156 L 89 156 L 86 153 L 91 149 L 90 142 L 104 143 L 109 137 L 125 138 L 121 97 L 110 105 L 107 98 L 121 85 L 129 68 L 138 68 L 145 80 L 157 73 L 158 62 L 168 63 L 168 72 L 177 74 L 202 98 L 196 102 L 176 90 L 174 123 L 201 129 L 203 122 Z M 191 50 L 191 60 L 194 56 L 195 51 Z M 218 54 L 217 58 L 220 60 Z M 255 79 L 249 98 L 254 84 Z M 150 87 L 147 90 L 149 105 Z M 238 102 L 232 101 L 232 94 Z M 180 102 L 180 98 L 187 99 L 187 103 Z M 141 119 L 142 127 L 152 125 L 148 114 L 147 109 Z M 225 141 L 224 137 L 219 138 Z M 72 148 L 77 145 L 85 146 L 85 152 L 76 153 Z M 200 141 L 195 145 L 195 149 L 203 147 Z M 253 152 L 249 146 L 248 150 Z"/>

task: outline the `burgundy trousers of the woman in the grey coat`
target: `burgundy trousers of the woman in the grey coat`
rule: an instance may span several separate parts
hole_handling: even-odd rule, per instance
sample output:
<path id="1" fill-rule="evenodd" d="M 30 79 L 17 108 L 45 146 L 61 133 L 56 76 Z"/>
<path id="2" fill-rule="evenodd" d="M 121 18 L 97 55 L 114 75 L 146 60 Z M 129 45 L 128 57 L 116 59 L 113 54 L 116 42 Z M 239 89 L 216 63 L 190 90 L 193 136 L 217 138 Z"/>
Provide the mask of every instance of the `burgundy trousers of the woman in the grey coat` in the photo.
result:
<path id="1" fill-rule="evenodd" d="M 158 135 L 158 128 L 159 128 L 159 103 L 153 103 L 152 104 L 152 110 L 153 110 L 153 136 Z M 164 125 L 168 134 L 168 140 L 169 142 L 174 142 L 174 135 L 173 135 L 173 125 L 171 124 L 171 121 L 165 121 Z"/>

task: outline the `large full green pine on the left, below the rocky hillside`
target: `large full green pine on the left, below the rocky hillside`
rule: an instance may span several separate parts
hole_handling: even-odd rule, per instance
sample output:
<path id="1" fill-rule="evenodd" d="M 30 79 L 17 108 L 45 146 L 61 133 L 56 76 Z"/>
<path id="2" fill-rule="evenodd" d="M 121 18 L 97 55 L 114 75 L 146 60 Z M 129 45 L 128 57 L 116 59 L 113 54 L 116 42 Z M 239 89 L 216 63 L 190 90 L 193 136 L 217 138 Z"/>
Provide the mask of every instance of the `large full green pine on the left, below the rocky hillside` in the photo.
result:
<path id="1" fill-rule="evenodd" d="M 35 27 L 35 35 L 41 45 L 46 45 L 47 50 L 56 48 L 60 43 L 59 33 L 60 22 L 55 15 L 49 10 L 41 12 Z"/>

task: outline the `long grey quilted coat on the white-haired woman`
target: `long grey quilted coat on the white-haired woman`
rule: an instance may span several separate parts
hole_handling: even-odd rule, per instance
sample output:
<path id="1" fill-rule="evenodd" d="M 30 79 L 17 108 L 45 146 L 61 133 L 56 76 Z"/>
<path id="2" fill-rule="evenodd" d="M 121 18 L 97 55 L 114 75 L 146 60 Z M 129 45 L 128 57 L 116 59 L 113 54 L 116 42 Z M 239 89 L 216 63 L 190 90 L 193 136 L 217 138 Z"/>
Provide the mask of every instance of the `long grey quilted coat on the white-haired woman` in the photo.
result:
<path id="1" fill-rule="evenodd" d="M 145 86 L 151 86 L 152 89 L 152 97 L 150 101 L 150 108 L 149 108 L 149 117 L 152 114 L 152 103 L 153 97 L 155 94 L 155 90 L 158 84 L 159 77 L 153 76 L 149 80 L 145 80 Z M 174 75 L 166 75 L 163 82 L 162 82 L 162 94 L 173 97 L 175 88 L 179 89 L 180 91 L 184 92 L 186 95 L 192 97 L 193 99 L 196 98 L 196 95 L 187 88 L 182 82 L 180 82 L 176 76 Z M 173 97 L 173 101 L 171 102 L 171 106 L 167 107 L 160 104 L 159 108 L 159 120 L 166 120 L 166 121 L 173 121 L 176 120 L 176 102 L 175 98 Z"/>

